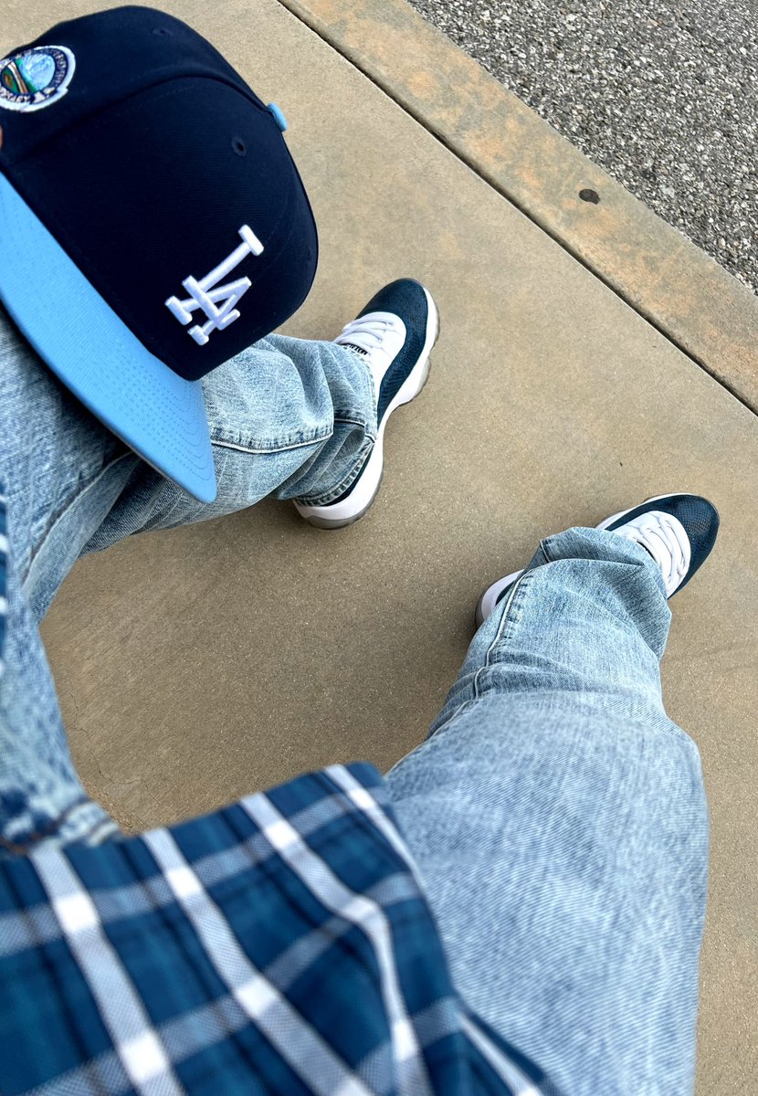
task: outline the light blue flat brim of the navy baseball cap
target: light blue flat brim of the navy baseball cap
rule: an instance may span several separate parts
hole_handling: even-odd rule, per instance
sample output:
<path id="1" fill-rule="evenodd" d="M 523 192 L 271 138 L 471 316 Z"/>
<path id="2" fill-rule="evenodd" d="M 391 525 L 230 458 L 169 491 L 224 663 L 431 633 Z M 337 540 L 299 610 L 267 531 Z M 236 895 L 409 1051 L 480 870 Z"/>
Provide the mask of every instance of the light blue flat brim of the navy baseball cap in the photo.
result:
<path id="1" fill-rule="evenodd" d="M 200 502 L 214 501 L 202 383 L 184 380 L 145 349 L 4 175 L 0 298 L 43 361 L 101 422 Z"/>

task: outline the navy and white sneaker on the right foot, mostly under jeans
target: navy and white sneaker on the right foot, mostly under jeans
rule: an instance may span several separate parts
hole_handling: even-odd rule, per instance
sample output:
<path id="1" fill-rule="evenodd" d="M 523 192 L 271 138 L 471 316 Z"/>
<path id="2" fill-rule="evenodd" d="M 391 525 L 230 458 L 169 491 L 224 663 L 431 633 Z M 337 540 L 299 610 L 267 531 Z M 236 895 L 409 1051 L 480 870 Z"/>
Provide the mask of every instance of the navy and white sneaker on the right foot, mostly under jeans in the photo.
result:
<path id="1" fill-rule="evenodd" d="M 719 533 L 719 513 L 698 494 L 658 494 L 597 527 L 642 545 L 661 568 L 666 597 L 671 597 L 708 559 Z M 487 586 L 476 605 L 478 628 L 522 574 L 514 571 Z"/>

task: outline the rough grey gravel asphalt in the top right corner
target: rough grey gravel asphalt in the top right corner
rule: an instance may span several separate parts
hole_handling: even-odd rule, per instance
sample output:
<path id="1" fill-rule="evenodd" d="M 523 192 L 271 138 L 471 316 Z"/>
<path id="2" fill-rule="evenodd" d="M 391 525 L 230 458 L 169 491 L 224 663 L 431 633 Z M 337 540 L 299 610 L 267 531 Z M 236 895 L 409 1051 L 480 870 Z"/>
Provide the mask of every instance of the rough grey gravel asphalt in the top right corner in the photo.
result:
<path id="1" fill-rule="evenodd" d="M 758 0 L 411 0 L 758 293 Z"/>

